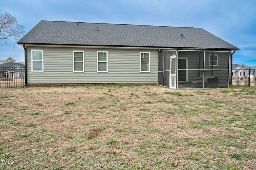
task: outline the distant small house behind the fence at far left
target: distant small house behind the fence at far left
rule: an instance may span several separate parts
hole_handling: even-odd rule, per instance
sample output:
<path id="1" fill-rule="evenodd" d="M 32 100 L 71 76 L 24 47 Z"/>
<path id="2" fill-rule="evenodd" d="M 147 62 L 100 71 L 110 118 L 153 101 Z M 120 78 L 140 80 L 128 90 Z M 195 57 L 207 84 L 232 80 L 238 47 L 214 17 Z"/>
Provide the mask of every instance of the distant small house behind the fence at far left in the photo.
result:
<path id="1" fill-rule="evenodd" d="M 24 78 L 25 66 L 20 63 L 0 64 L 0 78 Z"/>

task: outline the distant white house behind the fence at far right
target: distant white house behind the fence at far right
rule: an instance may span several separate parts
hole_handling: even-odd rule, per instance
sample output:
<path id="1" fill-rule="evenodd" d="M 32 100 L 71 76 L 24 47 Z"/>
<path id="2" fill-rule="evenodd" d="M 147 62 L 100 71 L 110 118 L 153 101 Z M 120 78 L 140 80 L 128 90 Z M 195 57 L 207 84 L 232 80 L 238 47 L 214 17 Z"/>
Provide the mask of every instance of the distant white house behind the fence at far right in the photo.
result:
<path id="1" fill-rule="evenodd" d="M 232 64 L 232 77 L 234 78 L 240 78 L 240 77 L 248 77 L 249 76 L 249 70 L 238 65 L 238 64 Z M 255 77 L 255 70 L 251 70 L 250 74 L 251 78 Z"/>

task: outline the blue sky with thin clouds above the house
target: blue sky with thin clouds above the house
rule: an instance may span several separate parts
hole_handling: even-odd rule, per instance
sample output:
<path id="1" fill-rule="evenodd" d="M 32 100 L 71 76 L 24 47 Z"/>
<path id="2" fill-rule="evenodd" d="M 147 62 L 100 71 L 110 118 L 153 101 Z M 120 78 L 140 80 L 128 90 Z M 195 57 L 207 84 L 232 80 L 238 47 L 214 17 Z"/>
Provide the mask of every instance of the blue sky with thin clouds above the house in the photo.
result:
<path id="1" fill-rule="evenodd" d="M 256 66 L 256 0 L 0 0 L 27 33 L 40 20 L 200 27 L 240 48 L 233 63 Z M 24 49 L 0 41 L 0 60 Z"/>

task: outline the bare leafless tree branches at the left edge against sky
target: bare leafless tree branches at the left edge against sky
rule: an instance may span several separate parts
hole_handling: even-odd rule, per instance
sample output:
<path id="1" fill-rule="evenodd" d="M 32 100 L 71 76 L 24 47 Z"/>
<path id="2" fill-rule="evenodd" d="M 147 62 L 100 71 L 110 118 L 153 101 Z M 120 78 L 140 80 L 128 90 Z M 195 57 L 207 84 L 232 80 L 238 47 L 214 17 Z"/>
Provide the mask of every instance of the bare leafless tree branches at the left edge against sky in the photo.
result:
<path id="1" fill-rule="evenodd" d="M 0 13 L 0 39 L 16 48 L 16 42 L 24 35 L 24 26 L 19 24 L 16 17 L 8 13 Z"/>

